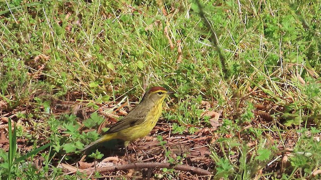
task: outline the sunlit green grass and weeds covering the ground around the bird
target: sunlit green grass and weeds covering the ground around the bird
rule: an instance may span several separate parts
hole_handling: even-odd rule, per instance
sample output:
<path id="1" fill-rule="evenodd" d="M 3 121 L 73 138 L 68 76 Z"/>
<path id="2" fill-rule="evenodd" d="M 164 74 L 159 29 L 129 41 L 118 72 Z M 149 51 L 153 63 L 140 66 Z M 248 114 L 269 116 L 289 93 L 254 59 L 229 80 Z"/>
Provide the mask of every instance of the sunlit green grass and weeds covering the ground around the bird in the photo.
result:
<path id="1" fill-rule="evenodd" d="M 75 161 L 72 152 L 99 136 L 88 129 L 98 129 L 125 95 L 136 103 L 146 88 L 161 85 L 175 91 L 163 113 L 173 135 L 211 129 L 215 178 L 318 179 L 311 173 L 321 160 L 321 2 L 240 1 L 240 9 L 237 1 L 202 3 L 204 9 L 190 0 L 1 3 L 0 122 L 11 117 L 16 128 L 4 131 L 10 148 L 0 150 L 8 164 L 0 175 L 62 178 L 57 164 Z M 205 110 L 223 110 L 218 127 L 202 117 Z M 171 162 L 184 160 L 162 146 Z M 178 178 L 169 169 L 156 174 Z M 64 178 L 84 178 L 78 175 Z"/>

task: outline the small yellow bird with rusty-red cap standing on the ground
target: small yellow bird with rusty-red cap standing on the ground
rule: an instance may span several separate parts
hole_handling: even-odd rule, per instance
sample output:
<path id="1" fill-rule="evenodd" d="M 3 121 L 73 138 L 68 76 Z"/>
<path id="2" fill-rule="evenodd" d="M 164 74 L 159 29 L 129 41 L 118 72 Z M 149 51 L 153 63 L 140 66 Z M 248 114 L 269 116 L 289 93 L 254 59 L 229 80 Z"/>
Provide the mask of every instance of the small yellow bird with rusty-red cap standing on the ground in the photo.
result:
<path id="1" fill-rule="evenodd" d="M 82 151 L 91 146 L 111 139 L 124 140 L 125 148 L 129 141 L 146 136 L 154 128 L 161 116 L 165 97 L 174 93 L 164 87 L 151 87 L 136 105 L 123 119 L 112 125 L 102 136 L 87 145 Z M 127 152 L 127 148 L 126 148 Z"/>

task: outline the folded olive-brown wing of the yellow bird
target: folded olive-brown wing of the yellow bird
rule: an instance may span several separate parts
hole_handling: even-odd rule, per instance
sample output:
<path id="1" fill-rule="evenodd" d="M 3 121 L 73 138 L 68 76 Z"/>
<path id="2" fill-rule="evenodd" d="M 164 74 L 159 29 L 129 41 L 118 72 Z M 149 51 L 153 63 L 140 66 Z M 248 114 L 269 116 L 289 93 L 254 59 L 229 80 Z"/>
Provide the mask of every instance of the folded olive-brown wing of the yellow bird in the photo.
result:
<path id="1" fill-rule="evenodd" d="M 146 117 L 146 110 L 134 110 L 130 111 L 123 119 L 116 122 L 110 127 L 104 134 L 118 132 L 128 127 L 142 123 Z"/>

